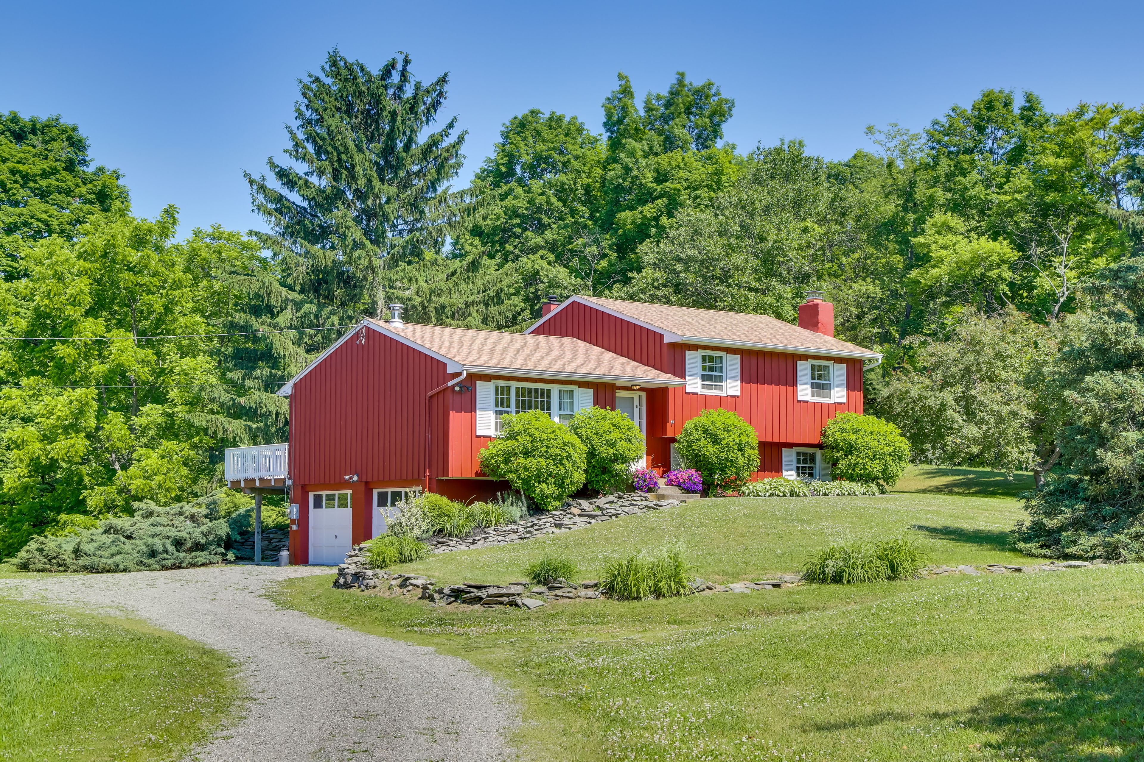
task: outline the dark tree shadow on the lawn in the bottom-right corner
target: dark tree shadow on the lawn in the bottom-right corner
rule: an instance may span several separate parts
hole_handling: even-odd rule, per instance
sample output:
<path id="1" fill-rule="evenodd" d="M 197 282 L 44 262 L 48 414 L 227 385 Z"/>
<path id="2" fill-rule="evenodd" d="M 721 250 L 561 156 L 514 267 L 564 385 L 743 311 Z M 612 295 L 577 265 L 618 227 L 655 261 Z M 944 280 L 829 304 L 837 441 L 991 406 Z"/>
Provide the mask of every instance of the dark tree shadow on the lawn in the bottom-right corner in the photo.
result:
<path id="1" fill-rule="evenodd" d="M 1020 677 L 966 712 L 930 719 L 960 722 L 986 735 L 980 752 L 1042 762 L 1120 762 L 1144 759 L 1144 648 L 1109 653 Z M 861 720 L 817 723 L 818 731 L 914 722 L 913 715 L 881 712 Z"/>

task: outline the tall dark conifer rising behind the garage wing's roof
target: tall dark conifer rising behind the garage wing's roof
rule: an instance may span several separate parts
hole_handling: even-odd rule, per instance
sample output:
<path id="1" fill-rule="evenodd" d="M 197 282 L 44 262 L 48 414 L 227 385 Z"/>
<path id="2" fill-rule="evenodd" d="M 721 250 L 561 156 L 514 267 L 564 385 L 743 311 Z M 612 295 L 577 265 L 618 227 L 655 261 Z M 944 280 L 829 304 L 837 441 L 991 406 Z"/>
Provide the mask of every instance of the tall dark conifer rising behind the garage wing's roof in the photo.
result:
<path id="1" fill-rule="evenodd" d="M 384 271 L 440 251 L 466 133 L 450 139 L 454 117 L 424 134 L 448 73 L 423 85 L 410 63 L 403 54 L 373 73 L 331 51 L 320 74 L 299 81 L 285 153 L 300 167 L 268 159 L 277 187 L 245 174 L 271 228 L 259 240 L 292 289 L 325 305 L 321 324 L 381 316 Z"/>

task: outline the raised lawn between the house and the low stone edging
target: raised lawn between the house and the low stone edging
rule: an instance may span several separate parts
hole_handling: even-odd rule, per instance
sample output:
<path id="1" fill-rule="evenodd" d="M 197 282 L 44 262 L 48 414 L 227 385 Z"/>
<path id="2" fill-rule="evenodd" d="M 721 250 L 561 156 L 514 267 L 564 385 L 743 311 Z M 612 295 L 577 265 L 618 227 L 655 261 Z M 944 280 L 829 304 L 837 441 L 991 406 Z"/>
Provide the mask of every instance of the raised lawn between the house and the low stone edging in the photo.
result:
<path id="1" fill-rule="evenodd" d="M 683 543 L 696 573 L 713 581 L 797 571 L 836 540 L 906 535 L 935 563 L 1009 563 L 1008 531 L 1024 512 L 1016 500 L 901 495 L 879 497 L 721 498 L 593 524 L 527 543 L 430 555 L 397 567 L 442 581 L 505 583 L 542 555 L 567 555 L 582 579 L 598 578 L 609 558 Z M 462 580 L 463 577 L 463 580 Z"/>

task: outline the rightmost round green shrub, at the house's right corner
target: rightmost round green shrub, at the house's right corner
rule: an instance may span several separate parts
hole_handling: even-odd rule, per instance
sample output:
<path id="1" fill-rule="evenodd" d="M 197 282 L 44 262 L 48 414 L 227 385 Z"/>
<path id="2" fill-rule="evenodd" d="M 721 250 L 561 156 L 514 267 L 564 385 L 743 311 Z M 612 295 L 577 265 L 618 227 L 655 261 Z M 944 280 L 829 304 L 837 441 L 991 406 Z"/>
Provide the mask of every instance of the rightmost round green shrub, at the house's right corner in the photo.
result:
<path id="1" fill-rule="evenodd" d="M 884 492 L 901 479 L 909 443 L 888 420 L 840 412 L 823 426 L 823 457 L 834 464 L 835 479 L 873 482 Z"/>

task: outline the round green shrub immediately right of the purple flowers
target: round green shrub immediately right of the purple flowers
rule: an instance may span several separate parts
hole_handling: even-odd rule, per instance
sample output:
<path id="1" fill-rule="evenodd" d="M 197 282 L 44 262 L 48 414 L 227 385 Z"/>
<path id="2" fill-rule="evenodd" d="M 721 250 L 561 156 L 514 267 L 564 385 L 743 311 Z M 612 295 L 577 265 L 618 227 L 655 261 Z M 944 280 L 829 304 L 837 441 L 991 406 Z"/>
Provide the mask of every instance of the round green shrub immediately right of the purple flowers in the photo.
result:
<path id="1" fill-rule="evenodd" d="M 684 424 L 675 447 L 704 475 L 705 495 L 731 491 L 758 471 L 758 434 L 731 410 L 704 410 Z"/>

